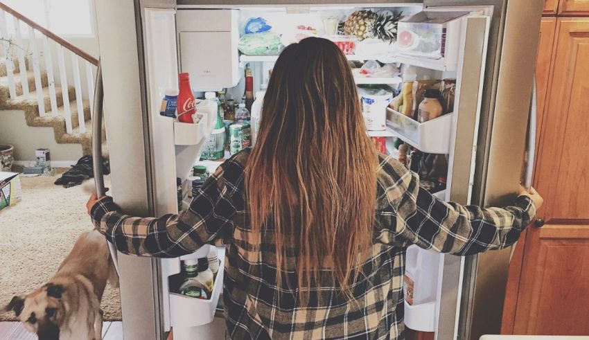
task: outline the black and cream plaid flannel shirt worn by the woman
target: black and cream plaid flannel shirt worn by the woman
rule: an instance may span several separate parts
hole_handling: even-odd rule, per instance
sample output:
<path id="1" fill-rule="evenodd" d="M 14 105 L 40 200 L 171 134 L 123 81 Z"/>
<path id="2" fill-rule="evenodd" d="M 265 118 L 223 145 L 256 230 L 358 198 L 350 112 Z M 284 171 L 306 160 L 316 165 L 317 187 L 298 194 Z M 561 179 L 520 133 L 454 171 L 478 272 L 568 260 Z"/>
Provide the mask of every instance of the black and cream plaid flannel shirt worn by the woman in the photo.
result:
<path id="1" fill-rule="evenodd" d="M 91 209 L 96 228 L 123 253 L 177 257 L 203 244 L 227 244 L 223 301 L 231 339 L 403 339 L 409 245 L 457 255 L 502 249 L 518 240 L 535 215 L 525 196 L 507 208 L 442 202 L 419 187 L 416 174 L 382 156 L 372 256 L 362 268 L 367 278 L 352 286 L 355 300 L 320 282 L 301 307 L 290 265 L 281 289 L 276 286 L 272 226 L 262 236 L 249 229 L 248 156 L 246 149 L 222 163 L 180 215 L 124 215 L 110 197 Z"/>

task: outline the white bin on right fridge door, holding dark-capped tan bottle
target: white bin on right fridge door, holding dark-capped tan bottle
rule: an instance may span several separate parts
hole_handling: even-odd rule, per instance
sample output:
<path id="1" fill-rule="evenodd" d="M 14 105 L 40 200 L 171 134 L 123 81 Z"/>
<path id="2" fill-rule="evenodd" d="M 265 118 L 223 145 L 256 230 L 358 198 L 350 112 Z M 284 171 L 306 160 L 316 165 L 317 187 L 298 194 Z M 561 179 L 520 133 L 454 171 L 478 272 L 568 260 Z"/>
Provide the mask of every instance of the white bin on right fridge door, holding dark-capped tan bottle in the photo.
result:
<path id="1" fill-rule="evenodd" d="M 448 154 L 454 113 L 419 123 L 387 108 L 387 126 L 403 141 L 430 154 Z"/>

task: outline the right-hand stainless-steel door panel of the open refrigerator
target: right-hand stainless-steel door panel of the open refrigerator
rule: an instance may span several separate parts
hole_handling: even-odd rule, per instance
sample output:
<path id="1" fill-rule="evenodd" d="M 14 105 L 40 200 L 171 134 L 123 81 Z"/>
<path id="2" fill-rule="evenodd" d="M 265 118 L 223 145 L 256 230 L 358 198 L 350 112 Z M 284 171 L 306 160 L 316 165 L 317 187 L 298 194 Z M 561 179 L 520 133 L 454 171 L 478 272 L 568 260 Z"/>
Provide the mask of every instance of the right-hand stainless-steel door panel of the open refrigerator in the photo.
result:
<path id="1" fill-rule="evenodd" d="M 482 206 L 513 203 L 525 152 L 538 31 L 543 1 L 517 0 L 424 0 L 428 8 L 494 7 L 489 37 L 479 143 L 475 152 L 472 193 L 468 201 Z M 455 186 L 452 186 L 454 190 Z M 461 193 L 464 195 L 465 193 Z M 459 339 L 478 339 L 500 332 L 509 249 L 491 251 L 464 259 L 464 285 L 459 323 L 457 316 L 441 314 L 438 339 L 452 339 L 448 328 L 457 327 Z M 448 266 L 450 270 L 452 266 Z M 444 267 L 446 271 L 446 267 Z M 448 280 L 450 284 L 446 285 Z M 445 276 L 443 296 L 453 292 L 453 280 Z M 448 302 L 453 305 L 454 302 Z M 442 308 L 444 304 L 442 304 Z M 456 338 L 453 338 L 456 339 Z"/>

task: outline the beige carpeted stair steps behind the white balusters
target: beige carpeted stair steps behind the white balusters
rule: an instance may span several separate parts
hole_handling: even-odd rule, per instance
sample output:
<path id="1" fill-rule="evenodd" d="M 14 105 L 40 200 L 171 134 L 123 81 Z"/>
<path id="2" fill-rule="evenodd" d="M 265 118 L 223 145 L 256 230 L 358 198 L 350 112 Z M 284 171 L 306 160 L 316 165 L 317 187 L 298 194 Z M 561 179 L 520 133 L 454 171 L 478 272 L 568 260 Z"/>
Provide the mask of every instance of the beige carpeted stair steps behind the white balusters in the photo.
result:
<path id="1" fill-rule="evenodd" d="M 49 87 L 48 87 L 48 78 L 47 73 L 42 71 L 41 73 L 41 80 L 43 88 L 41 91 L 43 92 L 44 98 L 44 105 L 45 105 L 45 116 L 39 116 L 39 108 L 37 105 L 37 92 L 35 91 L 35 75 L 32 71 L 32 67 L 27 66 L 27 69 L 30 71 L 26 71 L 27 79 L 28 79 L 28 89 L 29 95 L 24 96 L 22 91 L 22 84 L 21 84 L 21 75 L 19 69 L 19 63 L 13 61 L 15 70 L 14 70 L 14 79 L 17 91 L 17 98 L 10 99 L 10 94 L 8 90 L 8 76 L 6 73 L 6 60 L 0 59 L 0 110 L 22 110 L 24 111 L 24 116 L 26 119 L 26 124 L 30 127 L 53 127 L 53 135 L 55 136 L 55 141 L 58 143 L 77 143 L 82 145 L 82 154 L 92 154 L 92 138 L 91 138 L 91 119 L 90 119 L 90 104 L 88 100 L 83 100 L 83 108 L 84 108 L 84 118 L 85 118 L 85 126 L 86 132 L 80 132 L 80 127 L 78 123 L 78 105 L 76 104 L 76 90 L 74 87 L 68 87 L 67 91 L 69 94 L 69 107 L 71 111 L 71 126 L 72 132 L 66 132 L 65 126 L 65 116 L 64 116 L 64 106 L 63 106 L 63 96 L 62 96 L 62 87 L 55 85 L 55 95 L 57 97 L 57 104 L 58 104 L 58 112 L 51 111 L 51 100 L 49 98 Z M 28 62 L 27 62 L 28 64 Z M 27 132 L 29 133 L 29 132 Z M 34 133 L 32 130 L 30 133 Z M 103 136 L 102 140 L 106 140 L 106 134 L 103 127 Z M 103 142 L 103 157 L 108 159 L 108 150 L 106 143 Z"/>

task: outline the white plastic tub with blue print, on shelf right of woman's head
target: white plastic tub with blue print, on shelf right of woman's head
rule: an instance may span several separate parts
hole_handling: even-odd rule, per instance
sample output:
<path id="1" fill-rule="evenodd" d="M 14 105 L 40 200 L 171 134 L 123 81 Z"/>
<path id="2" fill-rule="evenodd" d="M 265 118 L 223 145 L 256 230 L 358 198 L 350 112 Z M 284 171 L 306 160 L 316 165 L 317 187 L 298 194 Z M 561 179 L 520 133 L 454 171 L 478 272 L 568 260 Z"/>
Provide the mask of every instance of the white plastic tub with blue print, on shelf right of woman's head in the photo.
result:
<path id="1" fill-rule="evenodd" d="M 364 124 L 369 131 L 381 131 L 387 127 L 387 106 L 393 93 L 385 89 L 358 89 L 362 101 Z"/>

